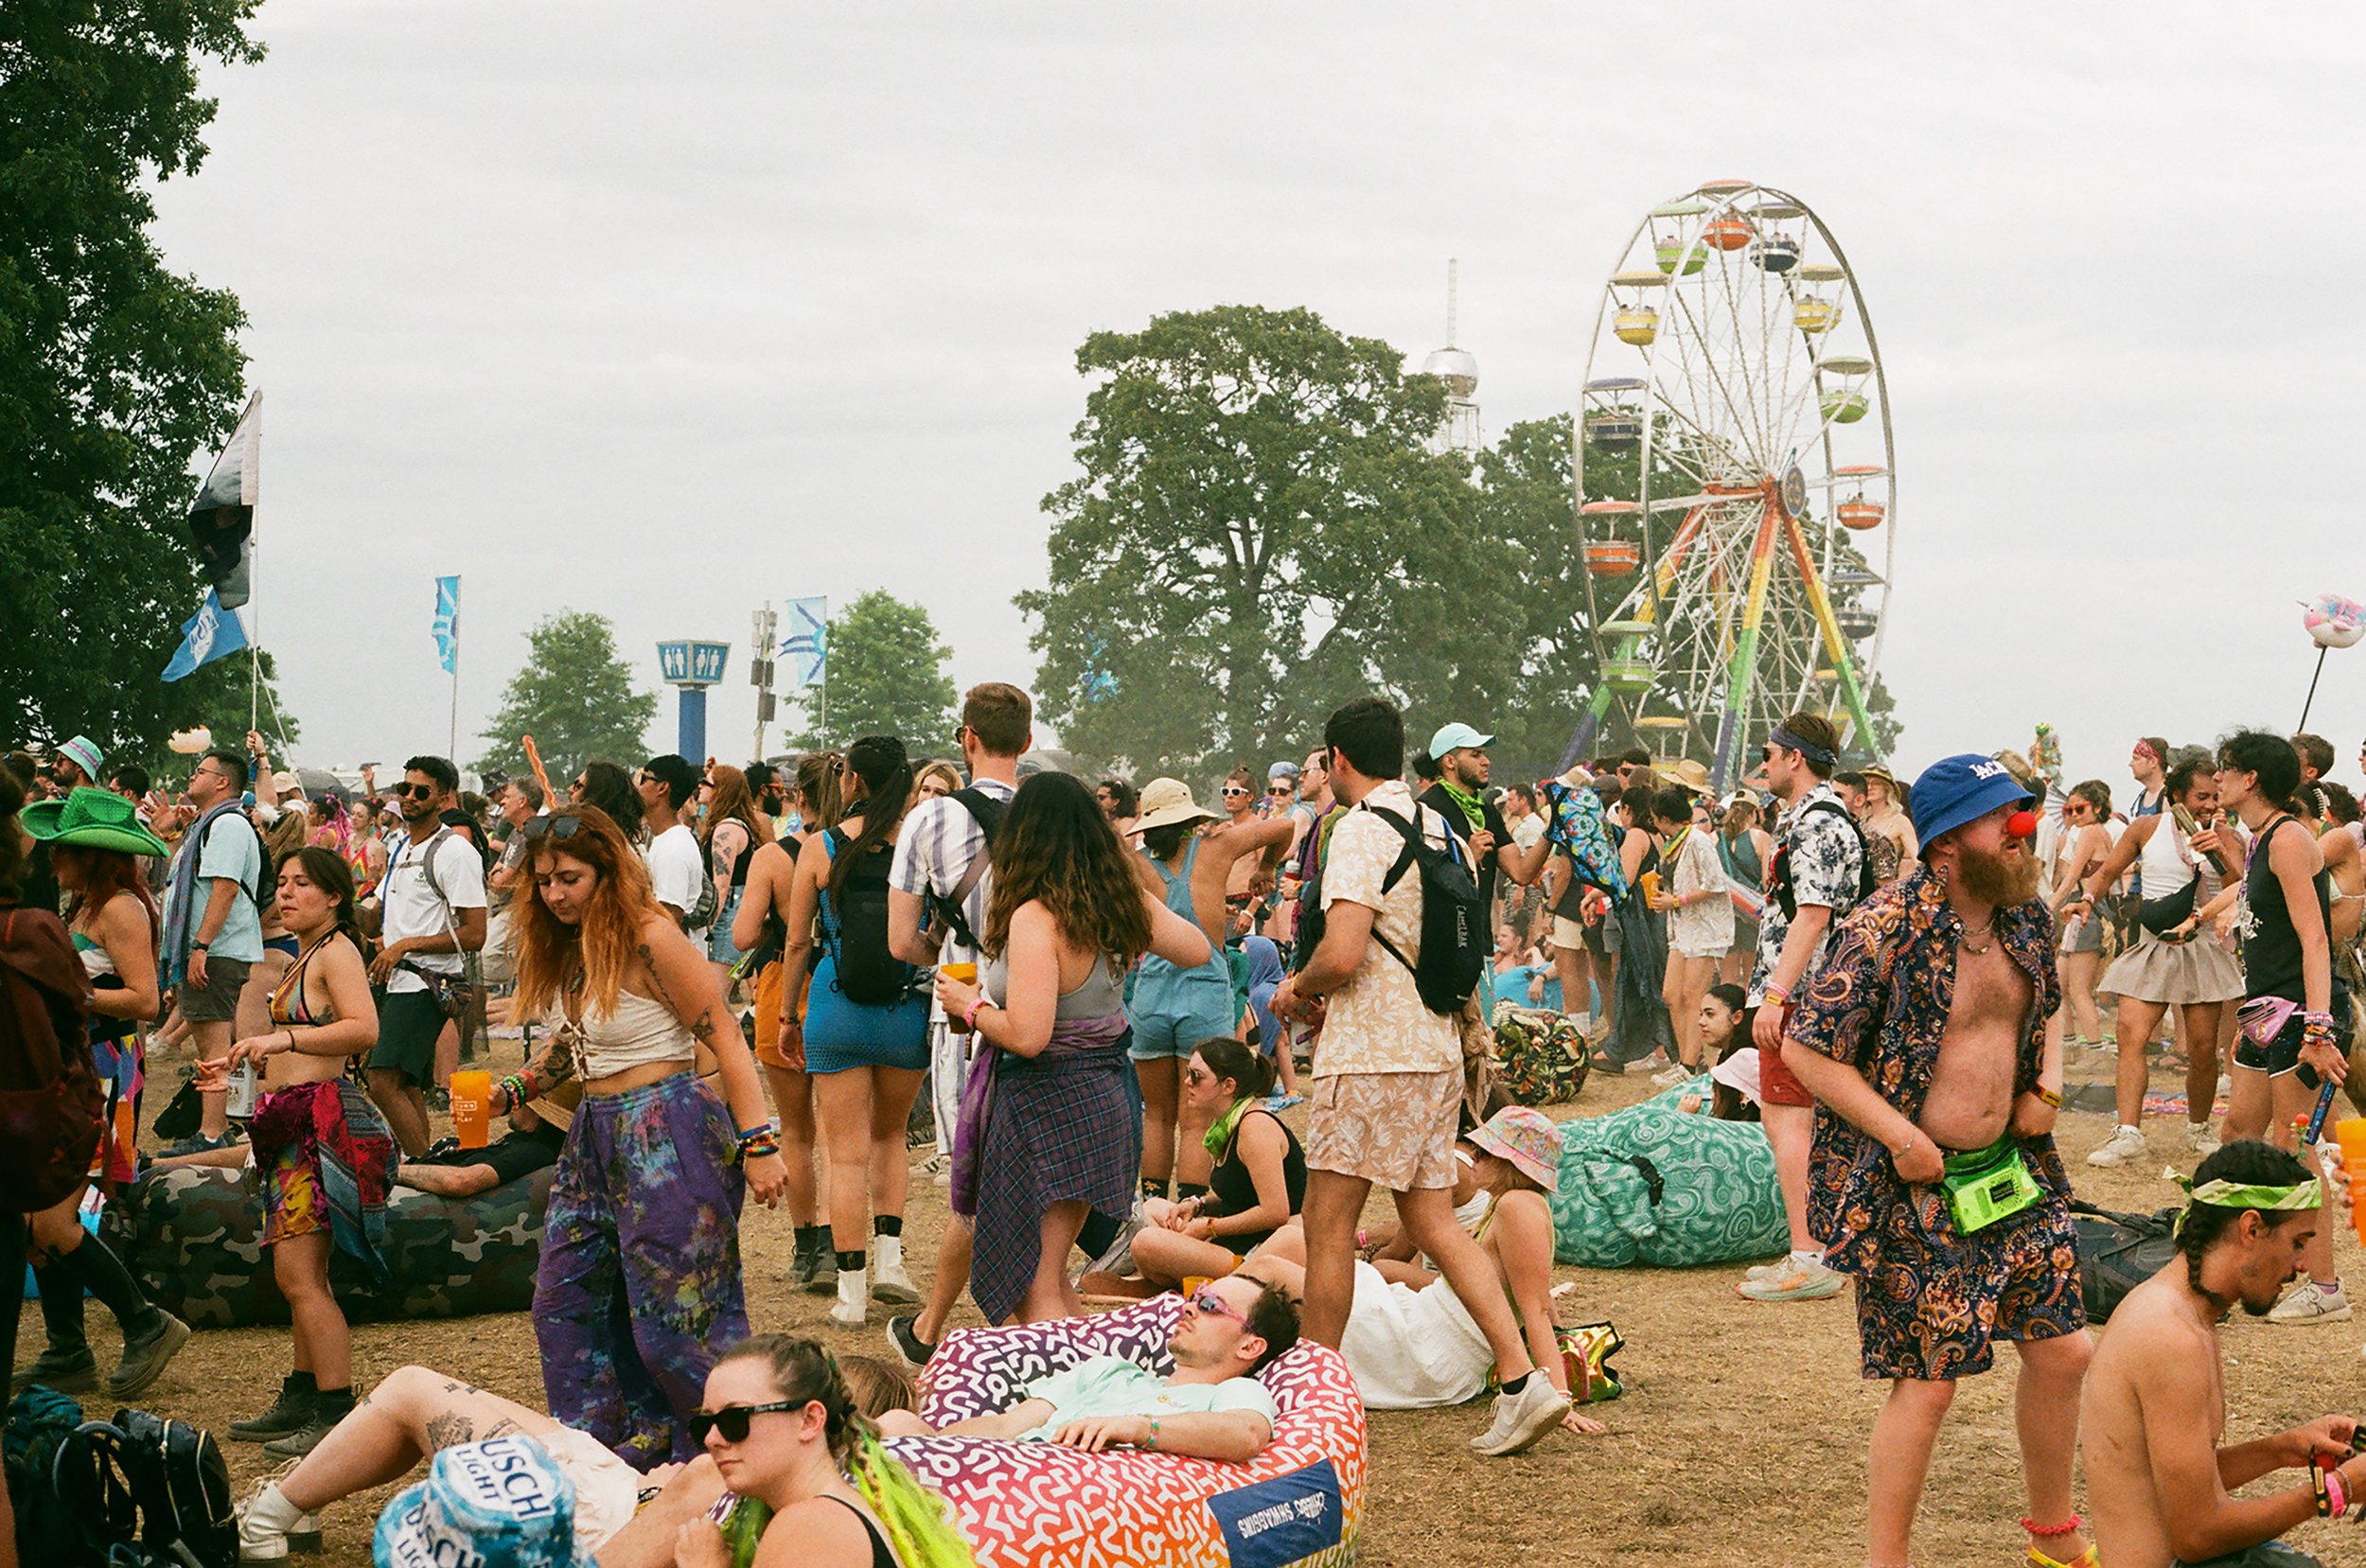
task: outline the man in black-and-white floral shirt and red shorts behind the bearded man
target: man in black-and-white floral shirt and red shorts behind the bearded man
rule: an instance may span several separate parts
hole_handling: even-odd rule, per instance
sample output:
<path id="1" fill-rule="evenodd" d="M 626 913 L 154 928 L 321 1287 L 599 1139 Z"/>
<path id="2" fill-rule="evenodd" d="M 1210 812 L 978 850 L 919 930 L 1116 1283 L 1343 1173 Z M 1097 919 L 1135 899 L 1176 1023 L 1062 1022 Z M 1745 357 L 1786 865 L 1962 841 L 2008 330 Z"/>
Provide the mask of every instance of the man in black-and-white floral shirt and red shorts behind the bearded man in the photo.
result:
<path id="1" fill-rule="evenodd" d="M 1831 927 L 1872 892 L 1864 835 L 1848 802 L 1831 788 L 1841 766 L 1841 733 L 1824 714 L 1798 712 L 1774 726 L 1765 750 L 1767 790 L 1782 802 L 1774 861 L 1758 915 L 1758 960 L 1748 1000 L 1758 1010 L 1758 1107 L 1774 1149 L 1774 1183 L 1791 1223 L 1791 1253 L 1744 1275 L 1744 1301 L 1822 1301 L 1848 1284 L 1824 1268 L 1824 1246 L 1808 1227 L 1808 1142 L 1815 1138 L 1815 1095 L 1784 1067 L 1782 1034 L 1791 998 L 1805 993 L 1824 963 Z"/>

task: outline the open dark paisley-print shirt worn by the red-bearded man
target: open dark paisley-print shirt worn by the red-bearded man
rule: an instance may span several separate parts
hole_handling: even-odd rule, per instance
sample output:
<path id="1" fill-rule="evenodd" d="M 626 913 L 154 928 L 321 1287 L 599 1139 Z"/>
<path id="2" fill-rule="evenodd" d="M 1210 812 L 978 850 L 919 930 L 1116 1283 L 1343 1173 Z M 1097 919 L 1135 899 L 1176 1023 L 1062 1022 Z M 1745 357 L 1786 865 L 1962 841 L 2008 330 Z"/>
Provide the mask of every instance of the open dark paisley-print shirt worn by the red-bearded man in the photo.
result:
<path id="1" fill-rule="evenodd" d="M 1791 1007 L 1786 1038 L 1848 1062 L 1874 1093 L 1909 1121 L 1921 1121 L 1954 1005 L 1954 955 L 1964 922 L 1945 885 L 1916 866 L 1905 880 L 1874 892 L 1834 927 L 1824 967 Z M 1997 941 L 2030 977 L 2030 1012 L 2021 1026 L 2013 1095 L 2037 1086 L 2044 1024 L 2061 1007 L 2054 970 L 2054 913 L 2042 899 L 1997 911 Z M 2023 1138 L 2037 1180 L 2056 1201 L 2070 1197 L 2054 1138 Z M 1921 1190 L 1933 1192 L 1933 1190 Z M 1916 1190 L 1898 1180 L 1890 1152 L 1831 1107 L 1815 1107 L 1815 1154 L 1808 1166 L 1808 1225 L 1827 1246 L 1827 1263 L 1869 1272 L 1886 1235 L 1907 1227 L 1921 1246 L 1926 1223 L 1914 1211 Z"/>

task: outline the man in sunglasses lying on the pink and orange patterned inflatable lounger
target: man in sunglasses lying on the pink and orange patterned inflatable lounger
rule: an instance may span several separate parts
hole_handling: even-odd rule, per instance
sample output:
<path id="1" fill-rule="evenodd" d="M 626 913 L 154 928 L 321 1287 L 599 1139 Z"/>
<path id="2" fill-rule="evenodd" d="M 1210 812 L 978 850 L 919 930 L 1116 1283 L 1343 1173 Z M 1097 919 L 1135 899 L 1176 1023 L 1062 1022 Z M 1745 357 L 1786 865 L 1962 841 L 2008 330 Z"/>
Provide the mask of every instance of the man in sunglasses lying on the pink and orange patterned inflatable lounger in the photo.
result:
<path id="1" fill-rule="evenodd" d="M 1263 1279 L 1226 1275 L 1185 1298 L 1166 1336 L 1174 1374 L 1095 1355 L 1027 1384 L 1027 1398 L 991 1417 L 935 1428 L 892 1410 L 890 1438 L 1015 1438 L 1086 1452 L 1114 1445 L 1192 1459 L 1245 1462 L 1266 1452 L 1280 1410 L 1256 1374 L 1299 1343 L 1299 1305 Z"/>

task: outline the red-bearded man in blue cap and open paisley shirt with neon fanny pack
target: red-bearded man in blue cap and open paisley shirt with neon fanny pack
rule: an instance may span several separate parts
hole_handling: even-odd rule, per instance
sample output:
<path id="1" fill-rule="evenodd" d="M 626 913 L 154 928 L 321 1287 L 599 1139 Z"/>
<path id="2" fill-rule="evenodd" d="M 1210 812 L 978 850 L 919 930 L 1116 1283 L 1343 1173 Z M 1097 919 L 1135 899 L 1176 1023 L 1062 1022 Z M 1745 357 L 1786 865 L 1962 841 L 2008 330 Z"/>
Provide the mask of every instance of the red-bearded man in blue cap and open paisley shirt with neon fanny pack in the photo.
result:
<path id="1" fill-rule="evenodd" d="M 2054 1152 L 2054 915 L 2028 851 L 2032 792 L 1987 757 L 1914 780 L 1921 866 L 1850 911 L 1786 1022 L 1817 1097 L 1808 1216 L 1857 1277 L 1864 1376 L 1888 1379 L 1869 1464 L 1869 1563 L 1909 1563 L 1914 1509 L 1959 1376 L 2021 1355 L 2030 1561 L 2089 1561 L 2070 1511 L 2087 1327 L 2070 1180 Z M 2016 821 L 2018 818 L 2018 821 Z"/>

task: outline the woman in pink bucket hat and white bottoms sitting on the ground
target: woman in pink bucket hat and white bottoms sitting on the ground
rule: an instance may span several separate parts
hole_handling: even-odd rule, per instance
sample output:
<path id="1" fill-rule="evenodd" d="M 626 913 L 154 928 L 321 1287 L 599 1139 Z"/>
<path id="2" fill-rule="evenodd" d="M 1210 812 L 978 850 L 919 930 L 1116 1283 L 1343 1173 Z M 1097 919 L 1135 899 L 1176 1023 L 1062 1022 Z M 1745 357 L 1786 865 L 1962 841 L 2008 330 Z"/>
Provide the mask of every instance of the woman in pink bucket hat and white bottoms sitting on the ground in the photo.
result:
<path id="1" fill-rule="evenodd" d="M 1538 1372 L 1569 1398 L 1569 1362 L 1552 1315 L 1552 1201 L 1562 1180 L 1562 1128 L 1524 1104 L 1486 1119 L 1455 1145 L 1455 1213 L 1495 1265 L 1512 1298 Z M 1368 1244 L 1379 1251 L 1379 1244 Z M 1306 1282 L 1306 1235 L 1275 1232 L 1242 1272 L 1299 1291 Z M 1460 1405 L 1486 1388 L 1493 1353 L 1450 1284 L 1417 1263 L 1356 1265 L 1356 1303 L 1339 1355 L 1368 1410 Z M 1576 1407 L 1562 1417 L 1576 1433 L 1604 1426 Z"/>

